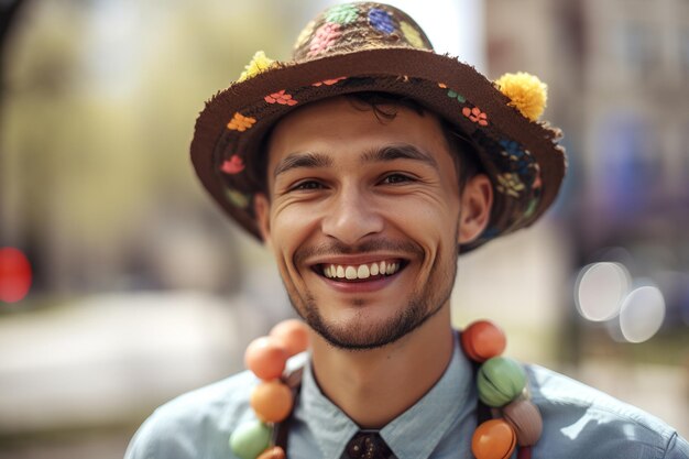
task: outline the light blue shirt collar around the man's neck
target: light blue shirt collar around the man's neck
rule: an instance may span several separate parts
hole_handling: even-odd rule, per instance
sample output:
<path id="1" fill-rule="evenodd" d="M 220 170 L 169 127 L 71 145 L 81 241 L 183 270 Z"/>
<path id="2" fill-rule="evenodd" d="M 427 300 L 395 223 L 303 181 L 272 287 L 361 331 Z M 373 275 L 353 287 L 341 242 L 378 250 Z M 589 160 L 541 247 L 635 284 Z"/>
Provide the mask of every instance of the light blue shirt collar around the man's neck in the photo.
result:
<path id="1" fill-rule="evenodd" d="M 462 406 L 469 403 L 473 372 L 459 349 L 457 334 L 453 337 L 452 357 L 440 380 L 380 431 L 398 459 L 429 457 L 461 415 Z M 300 402 L 295 415 L 307 424 L 325 458 L 341 457 L 347 442 L 359 430 L 357 424 L 320 392 L 310 362 L 304 369 Z M 424 440 L 419 441 L 419 438 Z"/>

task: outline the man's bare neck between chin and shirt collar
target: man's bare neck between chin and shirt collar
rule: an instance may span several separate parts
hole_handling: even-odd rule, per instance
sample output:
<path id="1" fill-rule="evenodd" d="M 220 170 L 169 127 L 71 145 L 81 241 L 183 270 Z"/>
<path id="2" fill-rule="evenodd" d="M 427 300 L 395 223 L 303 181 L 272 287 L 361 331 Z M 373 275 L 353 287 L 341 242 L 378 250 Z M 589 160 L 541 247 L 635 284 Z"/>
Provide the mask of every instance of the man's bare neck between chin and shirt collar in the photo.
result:
<path id="1" fill-rule="evenodd" d="M 452 357 L 449 305 L 380 349 L 336 349 L 311 337 L 314 375 L 322 393 L 361 428 L 382 428 L 418 402 Z"/>

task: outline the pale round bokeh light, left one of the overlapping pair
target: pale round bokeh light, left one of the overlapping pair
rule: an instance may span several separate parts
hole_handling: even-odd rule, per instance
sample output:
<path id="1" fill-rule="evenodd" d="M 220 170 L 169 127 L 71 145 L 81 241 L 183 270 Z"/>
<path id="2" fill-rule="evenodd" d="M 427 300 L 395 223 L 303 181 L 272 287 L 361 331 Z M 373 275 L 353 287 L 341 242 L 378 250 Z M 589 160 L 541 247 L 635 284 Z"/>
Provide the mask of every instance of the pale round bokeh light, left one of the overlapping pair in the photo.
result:
<path id="1" fill-rule="evenodd" d="M 620 263 L 601 262 L 584 266 L 579 272 L 575 287 L 579 314 L 592 321 L 615 317 L 630 284 L 630 273 Z"/>

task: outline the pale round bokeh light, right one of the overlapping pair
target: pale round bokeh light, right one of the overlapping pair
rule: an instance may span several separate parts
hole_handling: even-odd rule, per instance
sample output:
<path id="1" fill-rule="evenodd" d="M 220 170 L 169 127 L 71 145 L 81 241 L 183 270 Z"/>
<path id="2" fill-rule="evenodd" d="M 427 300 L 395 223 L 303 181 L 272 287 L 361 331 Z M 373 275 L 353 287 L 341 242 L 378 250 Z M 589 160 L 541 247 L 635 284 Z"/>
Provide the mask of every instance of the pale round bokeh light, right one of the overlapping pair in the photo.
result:
<path id="1" fill-rule="evenodd" d="M 644 285 L 632 291 L 620 309 L 620 329 L 630 342 L 650 339 L 665 319 L 665 297 L 656 286 Z"/>

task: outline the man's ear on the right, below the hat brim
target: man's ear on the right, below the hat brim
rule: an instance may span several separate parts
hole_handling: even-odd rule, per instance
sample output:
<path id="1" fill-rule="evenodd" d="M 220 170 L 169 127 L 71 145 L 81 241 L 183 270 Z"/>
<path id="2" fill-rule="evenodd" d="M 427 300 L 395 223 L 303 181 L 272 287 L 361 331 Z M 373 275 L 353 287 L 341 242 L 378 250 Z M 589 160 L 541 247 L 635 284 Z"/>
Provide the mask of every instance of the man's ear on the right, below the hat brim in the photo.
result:
<path id="1" fill-rule="evenodd" d="M 466 244 L 477 239 L 491 218 L 493 185 L 485 174 L 471 177 L 461 195 L 458 242 Z"/>

